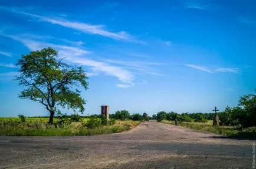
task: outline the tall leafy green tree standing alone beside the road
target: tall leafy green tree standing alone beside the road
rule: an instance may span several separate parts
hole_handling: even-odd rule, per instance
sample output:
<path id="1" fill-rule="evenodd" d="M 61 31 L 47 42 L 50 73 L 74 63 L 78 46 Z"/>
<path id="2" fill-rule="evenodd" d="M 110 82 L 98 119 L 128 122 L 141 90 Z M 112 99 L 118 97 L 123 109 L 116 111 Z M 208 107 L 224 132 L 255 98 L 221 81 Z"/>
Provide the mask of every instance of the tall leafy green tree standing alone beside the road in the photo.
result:
<path id="1" fill-rule="evenodd" d="M 82 67 L 67 65 L 52 48 L 22 55 L 17 66 L 21 75 L 16 80 L 25 86 L 19 97 L 43 104 L 50 112 L 49 123 L 53 123 L 57 105 L 83 113 L 86 100 L 78 88 L 88 89 L 88 82 Z"/>

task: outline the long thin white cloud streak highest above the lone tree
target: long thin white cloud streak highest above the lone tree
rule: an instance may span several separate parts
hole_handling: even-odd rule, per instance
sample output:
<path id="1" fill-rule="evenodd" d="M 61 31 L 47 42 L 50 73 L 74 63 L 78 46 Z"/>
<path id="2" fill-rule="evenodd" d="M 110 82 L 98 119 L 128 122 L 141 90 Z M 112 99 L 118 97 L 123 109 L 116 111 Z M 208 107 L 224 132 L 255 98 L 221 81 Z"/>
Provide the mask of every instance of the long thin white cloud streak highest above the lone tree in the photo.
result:
<path id="1" fill-rule="evenodd" d="M 66 28 L 71 28 L 75 29 L 80 32 L 84 33 L 89 33 L 89 34 L 94 34 L 94 35 L 101 35 L 101 36 L 106 36 L 112 39 L 116 40 L 124 40 L 127 42 L 135 42 L 135 43 L 144 43 L 142 40 L 137 40 L 134 38 L 132 35 L 129 35 L 129 33 L 125 31 L 120 31 L 120 32 L 110 32 L 108 31 L 104 25 L 91 25 L 89 23 L 83 23 L 83 22 L 78 22 L 78 21 L 69 21 L 67 19 L 63 18 L 58 18 L 58 17 L 48 17 L 48 16 L 42 16 L 42 15 L 36 15 L 34 13 L 28 13 L 21 11 L 18 8 L 8 8 L 5 6 L 1 6 L 0 9 L 4 9 L 9 12 L 15 12 L 27 16 L 31 16 L 32 18 L 38 18 L 40 21 L 56 24 L 56 25 L 61 25 Z"/>

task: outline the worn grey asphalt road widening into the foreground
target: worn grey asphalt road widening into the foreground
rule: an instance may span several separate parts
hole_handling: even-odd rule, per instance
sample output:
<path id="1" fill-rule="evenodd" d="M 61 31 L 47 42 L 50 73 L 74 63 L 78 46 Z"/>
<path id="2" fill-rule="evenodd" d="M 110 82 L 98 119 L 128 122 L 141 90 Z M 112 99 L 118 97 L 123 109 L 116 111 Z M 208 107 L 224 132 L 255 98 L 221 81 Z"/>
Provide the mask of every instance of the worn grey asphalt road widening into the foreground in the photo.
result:
<path id="1" fill-rule="evenodd" d="M 252 168 L 252 140 L 156 122 L 85 137 L 0 137 L 0 168 Z"/>

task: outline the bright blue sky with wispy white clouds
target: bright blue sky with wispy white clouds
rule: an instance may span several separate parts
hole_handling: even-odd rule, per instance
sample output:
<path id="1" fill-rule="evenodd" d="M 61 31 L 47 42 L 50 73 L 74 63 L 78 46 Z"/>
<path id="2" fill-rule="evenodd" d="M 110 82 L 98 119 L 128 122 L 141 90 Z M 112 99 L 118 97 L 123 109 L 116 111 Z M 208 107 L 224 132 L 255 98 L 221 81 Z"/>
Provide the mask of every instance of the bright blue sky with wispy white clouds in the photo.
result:
<path id="1" fill-rule="evenodd" d="M 0 1 L 0 116 L 48 116 L 18 99 L 21 55 L 51 46 L 89 76 L 84 114 L 211 112 L 256 88 L 256 1 Z M 71 111 L 63 110 L 71 114 Z"/>

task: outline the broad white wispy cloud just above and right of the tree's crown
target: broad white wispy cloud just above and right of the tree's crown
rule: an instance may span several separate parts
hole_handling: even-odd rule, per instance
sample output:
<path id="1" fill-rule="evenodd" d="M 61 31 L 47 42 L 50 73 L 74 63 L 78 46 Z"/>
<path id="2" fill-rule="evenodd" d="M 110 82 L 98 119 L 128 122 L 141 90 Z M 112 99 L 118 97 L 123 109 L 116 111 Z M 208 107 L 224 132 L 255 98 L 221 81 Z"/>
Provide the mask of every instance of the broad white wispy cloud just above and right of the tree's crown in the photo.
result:
<path id="1" fill-rule="evenodd" d="M 134 75 L 127 69 L 120 66 L 111 66 L 106 62 L 99 62 L 97 60 L 84 58 L 85 55 L 91 54 L 91 52 L 82 49 L 80 46 L 63 46 L 52 43 L 38 42 L 32 39 L 26 39 L 19 36 L 7 35 L 6 37 L 12 38 L 21 42 L 24 46 L 27 46 L 30 50 L 41 50 L 42 48 L 53 47 L 58 50 L 59 55 L 65 60 L 78 65 L 88 66 L 92 72 L 87 73 L 88 76 L 97 76 L 99 73 L 105 75 L 115 76 L 124 85 L 134 85 Z M 82 58 L 83 57 L 83 58 Z"/>

